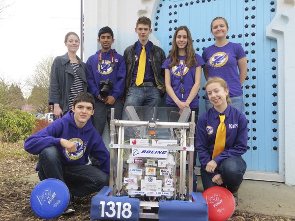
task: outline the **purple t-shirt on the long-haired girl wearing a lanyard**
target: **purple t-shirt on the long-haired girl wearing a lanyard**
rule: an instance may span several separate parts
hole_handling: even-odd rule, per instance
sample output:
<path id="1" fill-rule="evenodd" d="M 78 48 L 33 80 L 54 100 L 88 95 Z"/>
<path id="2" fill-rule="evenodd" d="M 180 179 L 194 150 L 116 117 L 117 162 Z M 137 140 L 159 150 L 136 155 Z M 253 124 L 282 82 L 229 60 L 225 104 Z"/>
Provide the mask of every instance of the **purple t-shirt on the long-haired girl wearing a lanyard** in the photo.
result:
<path id="1" fill-rule="evenodd" d="M 178 56 L 180 60 L 180 67 L 179 65 L 175 65 L 173 67 L 169 67 L 169 64 L 171 63 L 171 59 L 167 58 L 162 65 L 162 68 L 169 69 L 170 70 L 170 79 L 171 79 L 171 86 L 177 96 L 177 98 L 180 101 L 185 102 L 193 85 L 195 84 L 195 74 L 196 74 L 196 67 L 203 66 L 205 64 L 204 60 L 202 57 L 198 54 L 195 55 L 196 60 L 198 62 L 197 65 L 194 65 L 191 68 L 188 68 L 186 64 L 184 64 L 183 67 L 183 62 L 185 60 L 185 56 Z M 180 69 L 181 68 L 181 69 Z M 180 92 L 181 88 L 181 83 L 180 83 L 180 70 L 183 70 L 183 87 L 184 87 L 184 94 L 182 98 L 182 94 Z M 175 102 L 172 100 L 172 98 L 167 94 L 167 99 L 166 99 L 166 104 L 169 105 L 175 105 Z M 197 94 L 196 97 L 192 100 L 192 102 L 189 105 L 191 108 L 198 108 L 199 107 L 199 95 Z"/>

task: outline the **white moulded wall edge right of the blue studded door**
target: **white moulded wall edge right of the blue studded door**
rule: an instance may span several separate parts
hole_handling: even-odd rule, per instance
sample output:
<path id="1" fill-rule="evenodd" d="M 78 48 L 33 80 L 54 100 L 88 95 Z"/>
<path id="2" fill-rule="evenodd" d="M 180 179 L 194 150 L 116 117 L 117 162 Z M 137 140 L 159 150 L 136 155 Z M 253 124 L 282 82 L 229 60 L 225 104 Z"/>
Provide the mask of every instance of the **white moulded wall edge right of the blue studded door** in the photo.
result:
<path id="1" fill-rule="evenodd" d="M 295 0 L 277 0 L 266 36 L 278 44 L 279 173 L 287 185 L 295 185 Z"/>

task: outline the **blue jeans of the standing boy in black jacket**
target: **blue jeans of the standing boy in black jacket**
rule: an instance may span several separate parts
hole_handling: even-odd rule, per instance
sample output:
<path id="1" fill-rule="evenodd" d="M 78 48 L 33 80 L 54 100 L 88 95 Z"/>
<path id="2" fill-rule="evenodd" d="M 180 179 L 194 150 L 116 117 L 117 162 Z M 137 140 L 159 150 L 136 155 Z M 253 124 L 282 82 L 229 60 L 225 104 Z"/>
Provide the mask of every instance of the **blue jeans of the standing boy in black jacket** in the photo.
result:
<path id="1" fill-rule="evenodd" d="M 126 97 L 126 101 L 123 107 L 122 120 L 129 120 L 128 115 L 125 111 L 127 106 L 159 107 L 160 104 L 161 104 L 161 92 L 157 89 L 157 87 L 132 86 L 130 87 L 128 91 L 128 95 Z M 152 120 L 151 118 L 154 118 L 152 113 L 153 111 L 151 111 L 150 114 L 144 114 L 144 119 L 141 119 L 141 120 Z"/>

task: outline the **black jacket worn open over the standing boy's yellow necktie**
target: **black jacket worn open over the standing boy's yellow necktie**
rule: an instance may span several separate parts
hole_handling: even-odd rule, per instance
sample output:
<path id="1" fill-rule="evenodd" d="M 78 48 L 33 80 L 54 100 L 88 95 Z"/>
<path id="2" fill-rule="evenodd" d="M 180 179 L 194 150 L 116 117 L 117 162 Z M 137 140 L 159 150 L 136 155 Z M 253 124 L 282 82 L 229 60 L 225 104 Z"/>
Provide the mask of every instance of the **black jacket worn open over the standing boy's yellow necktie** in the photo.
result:
<path id="1" fill-rule="evenodd" d="M 135 42 L 134 45 L 131 45 L 127 47 L 124 51 L 124 59 L 126 63 L 126 83 L 125 83 L 125 89 L 124 89 L 124 98 L 127 97 L 129 88 L 132 84 L 132 72 L 134 68 L 135 63 L 135 46 L 137 42 Z M 165 69 L 162 68 L 162 64 L 166 60 L 166 55 L 163 49 L 161 49 L 158 46 L 153 45 L 152 42 L 150 42 L 150 60 L 151 60 L 151 67 L 154 72 L 155 76 L 155 83 L 157 85 L 158 90 L 164 95 L 165 93 Z"/>

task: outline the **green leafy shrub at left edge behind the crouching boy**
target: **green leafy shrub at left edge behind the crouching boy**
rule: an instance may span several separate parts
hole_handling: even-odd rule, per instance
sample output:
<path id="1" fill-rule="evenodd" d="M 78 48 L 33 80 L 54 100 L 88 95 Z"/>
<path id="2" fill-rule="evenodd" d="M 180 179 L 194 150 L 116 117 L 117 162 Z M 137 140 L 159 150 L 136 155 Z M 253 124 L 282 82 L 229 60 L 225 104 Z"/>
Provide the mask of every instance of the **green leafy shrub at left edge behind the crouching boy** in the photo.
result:
<path id="1" fill-rule="evenodd" d="M 35 128 L 35 116 L 28 111 L 0 111 L 0 140 L 17 142 L 28 138 Z"/>

